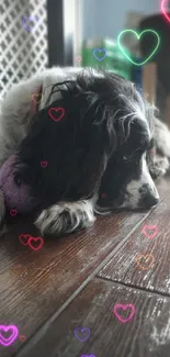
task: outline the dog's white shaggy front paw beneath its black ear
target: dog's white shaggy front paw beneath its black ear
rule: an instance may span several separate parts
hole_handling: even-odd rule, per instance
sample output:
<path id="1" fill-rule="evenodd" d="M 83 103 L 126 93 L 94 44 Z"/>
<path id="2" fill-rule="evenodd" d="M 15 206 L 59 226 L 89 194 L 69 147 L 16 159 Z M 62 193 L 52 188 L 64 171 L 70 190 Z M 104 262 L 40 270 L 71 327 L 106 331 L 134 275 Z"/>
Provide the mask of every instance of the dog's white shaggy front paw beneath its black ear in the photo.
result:
<path id="1" fill-rule="evenodd" d="M 93 207 L 90 200 L 60 202 L 44 210 L 35 225 L 42 235 L 64 235 L 93 224 Z"/>

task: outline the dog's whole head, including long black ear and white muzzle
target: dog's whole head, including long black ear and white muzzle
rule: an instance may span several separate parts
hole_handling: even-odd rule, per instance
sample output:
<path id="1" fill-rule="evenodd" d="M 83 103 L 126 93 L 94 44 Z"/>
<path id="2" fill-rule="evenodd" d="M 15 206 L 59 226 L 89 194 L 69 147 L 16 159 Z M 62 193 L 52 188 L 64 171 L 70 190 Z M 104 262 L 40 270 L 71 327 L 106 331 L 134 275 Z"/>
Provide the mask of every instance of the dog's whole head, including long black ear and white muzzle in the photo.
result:
<path id="1" fill-rule="evenodd" d="M 57 93 L 57 99 L 54 98 Z M 59 122 L 49 109 L 64 108 Z M 104 193 L 109 208 L 149 208 L 158 192 L 146 165 L 154 113 L 134 85 L 90 69 L 53 86 L 19 147 L 15 180 L 47 204 Z M 45 169 L 41 160 L 48 163 Z M 99 199 L 98 204 L 105 207 Z"/>

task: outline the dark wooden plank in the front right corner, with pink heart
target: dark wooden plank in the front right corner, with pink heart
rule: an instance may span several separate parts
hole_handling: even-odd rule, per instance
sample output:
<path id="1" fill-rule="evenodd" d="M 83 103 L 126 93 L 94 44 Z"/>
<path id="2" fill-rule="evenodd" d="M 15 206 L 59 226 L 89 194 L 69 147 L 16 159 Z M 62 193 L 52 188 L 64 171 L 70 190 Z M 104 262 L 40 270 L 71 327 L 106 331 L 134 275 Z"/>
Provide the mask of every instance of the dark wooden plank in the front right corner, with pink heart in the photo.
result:
<path id="1" fill-rule="evenodd" d="M 116 304 L 133 304 L 121 322 Z M 126 320 L 132 310 L 116 310 Z M 89 328 L 88 331 L 75 330 Z M 84 339 L 86 341 L 80 341 Z M 93 279 L 71 304 L 53 317 L 18 357 L 169 357 L 170 299 Z"/>

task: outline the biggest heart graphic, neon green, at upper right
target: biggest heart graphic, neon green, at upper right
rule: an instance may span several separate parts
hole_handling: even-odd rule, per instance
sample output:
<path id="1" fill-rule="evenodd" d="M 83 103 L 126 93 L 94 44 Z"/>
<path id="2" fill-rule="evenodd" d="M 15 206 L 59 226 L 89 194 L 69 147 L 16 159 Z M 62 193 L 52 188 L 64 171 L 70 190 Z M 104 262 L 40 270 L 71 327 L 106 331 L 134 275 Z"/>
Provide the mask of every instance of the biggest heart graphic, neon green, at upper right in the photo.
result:
<path id="1" fill-rule="evenodd" d="M 141 36 L 144 33 L 152 33 L 152 34 L 157 37 L 157 45 L 156 45 L 156 47 L 154 48 L 154 51 L 151 52 L 151 54 L 149 55 L 149 57 L 146 58 L 146 59 L 145 59 L 144 62 L 141 62 L 140 64 L 134 62 L 134 60 L 128 56 L 128 54 L 126 53 L 125 47 L 123 47 L 122 44 L 121 44 L 121 37 L 122 37 L 122 35 L 124 35 L 125 33 L 128 33 L 128 32 L 132 32 L 132 33 L 133 33 L 133 34 L 134 34 L 138 40 L 140 38 L 140 36 Z M 159 37 L 159 35 L 157 34 L 157 32 L 154 31 L 154 30 L 145 30 L 145 31 L 143 31 L 140 34 L 138 34 L 138 33 L 137 33 L 136 31 L 134 31 L 134 30 L 124 30 L 124 31 L 122 31 L 122 32 L 120 33 L 120 35 L 118 35 L 118 37 L 117 37 L 117 44 L 118 44 L 120 49 L 123 52 L 123 54 L 126 56 L 126 58 L 127 58 L 132 64 L 134 64 L 134 65 L 136 65 L 136 66 L 141 66 L 141 65 L 145 65 L 145 64 L 147 63 L 147 60 L 149 60 L 149 59 L 154 56 L 154 54 L 156 53 L 156 51 L 158 49 L 158 47 L 159 47 L 159 45 L 160 45 L 160 37 Z"/>

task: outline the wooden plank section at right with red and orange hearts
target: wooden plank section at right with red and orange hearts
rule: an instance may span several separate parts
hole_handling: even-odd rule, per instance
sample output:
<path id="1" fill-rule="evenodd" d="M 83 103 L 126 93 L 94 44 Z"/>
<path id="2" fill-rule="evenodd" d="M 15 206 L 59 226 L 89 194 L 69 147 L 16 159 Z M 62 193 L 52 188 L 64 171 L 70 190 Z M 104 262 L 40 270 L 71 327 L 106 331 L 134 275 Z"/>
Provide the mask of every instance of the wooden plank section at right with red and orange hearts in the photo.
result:
<path id="1" fill-rule="evenodd" d="M 155 227 L 147 227 L 151 225 Z M 99 276 L 170 294 L 170 185 L 162 202 L 115 253 Z"/>

